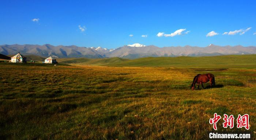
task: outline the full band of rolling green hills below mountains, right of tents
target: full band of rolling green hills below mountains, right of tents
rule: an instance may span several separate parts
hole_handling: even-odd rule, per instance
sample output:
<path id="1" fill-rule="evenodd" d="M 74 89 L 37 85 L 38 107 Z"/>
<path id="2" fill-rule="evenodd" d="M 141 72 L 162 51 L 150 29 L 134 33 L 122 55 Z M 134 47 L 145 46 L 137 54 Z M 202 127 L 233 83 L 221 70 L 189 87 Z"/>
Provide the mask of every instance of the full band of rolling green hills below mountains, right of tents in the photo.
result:
<path id="1" fill-rule="evenodd" d="M 81 65 L 105 65 L 115 67 L 256 67 L 256 54 L 227 55 L 208 57 L 146 57 L 138 59 L 123 58 L 64 58 L 59 63 Z"/>

